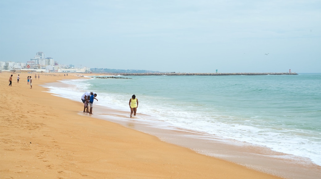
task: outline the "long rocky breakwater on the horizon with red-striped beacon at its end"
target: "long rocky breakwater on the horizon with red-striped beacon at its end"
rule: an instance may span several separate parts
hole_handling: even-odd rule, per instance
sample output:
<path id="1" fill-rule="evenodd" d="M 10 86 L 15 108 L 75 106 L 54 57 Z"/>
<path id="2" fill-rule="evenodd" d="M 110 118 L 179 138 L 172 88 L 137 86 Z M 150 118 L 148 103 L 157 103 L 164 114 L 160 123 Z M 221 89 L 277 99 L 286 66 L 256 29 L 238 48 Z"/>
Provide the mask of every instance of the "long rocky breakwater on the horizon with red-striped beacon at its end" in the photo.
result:
<path id="1" fill-rule="evenodd" d="M 181 76 L 181 75 L 200 75 L 200 76 L 223 76 L 223 75 L 297 75 L 298 73 L 117 73 L 115 75 L 123 75 L 123 76 L 160 76 L 160 75 L 168 75 L 168 76 Z M 97 77 L 96 77 L 97 78 Z"/>

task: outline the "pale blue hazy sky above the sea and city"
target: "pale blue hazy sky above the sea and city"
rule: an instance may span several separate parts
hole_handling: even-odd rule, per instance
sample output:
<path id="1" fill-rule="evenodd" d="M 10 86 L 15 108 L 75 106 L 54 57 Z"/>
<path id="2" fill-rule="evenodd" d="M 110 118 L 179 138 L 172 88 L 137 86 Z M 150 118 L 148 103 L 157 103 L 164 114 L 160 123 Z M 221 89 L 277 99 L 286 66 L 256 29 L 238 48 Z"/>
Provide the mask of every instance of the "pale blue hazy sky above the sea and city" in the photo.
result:
<path id="1" fill-rule="evenodd" d="M 321 72 L 320 0 L 1 0 L 0 61 Z M 268 54 L 268 55 L 265 55 Z"/>

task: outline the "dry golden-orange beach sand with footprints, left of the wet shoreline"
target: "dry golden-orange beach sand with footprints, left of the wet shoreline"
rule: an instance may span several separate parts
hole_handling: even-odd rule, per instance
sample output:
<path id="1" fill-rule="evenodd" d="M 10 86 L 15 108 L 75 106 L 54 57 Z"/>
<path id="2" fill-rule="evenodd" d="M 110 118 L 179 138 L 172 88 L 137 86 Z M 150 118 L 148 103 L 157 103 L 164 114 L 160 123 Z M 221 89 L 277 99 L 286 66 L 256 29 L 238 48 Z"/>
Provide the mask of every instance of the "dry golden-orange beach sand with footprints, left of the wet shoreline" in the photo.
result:
<path id="1" fill-rule="evenodd" d="M 35 74 L 8 86 L 11 74 L 0 73 L 0 178 L 279 178 L 84 115 L 80 97 L 39 86 L 77 74 L 40 73 L 32 89 Z"/>

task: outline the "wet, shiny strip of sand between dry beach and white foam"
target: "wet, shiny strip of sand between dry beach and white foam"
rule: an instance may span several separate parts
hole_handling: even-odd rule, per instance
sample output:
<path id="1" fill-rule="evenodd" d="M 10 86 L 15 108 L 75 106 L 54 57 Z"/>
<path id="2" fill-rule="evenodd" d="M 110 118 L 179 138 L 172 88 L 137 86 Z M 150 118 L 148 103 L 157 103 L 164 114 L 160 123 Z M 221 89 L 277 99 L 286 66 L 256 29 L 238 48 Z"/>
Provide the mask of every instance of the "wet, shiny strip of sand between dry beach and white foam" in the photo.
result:
<path id="1" fill-rule="evenodd" d="M 320 174 L 317 170 L 321 167 L 312 163 L 309 158 L 198 131 L 169 127 L 168 124 L 163 125 L 165 128 L 158 128 L 155 127 L 157 124 L 146 124 L 146 119 L 149 118 L 146 115 L 139 114 L 138 117 L 129 119 L 129 113 L 124 111 L 95 106 L 95 117 L 151 134 L 162 141 L 192 149 L 200 154 L 221 158 L 272 175 L 284 178 L 315 178 Z M 302 171 L 309 171 L 309 174 Z"/>

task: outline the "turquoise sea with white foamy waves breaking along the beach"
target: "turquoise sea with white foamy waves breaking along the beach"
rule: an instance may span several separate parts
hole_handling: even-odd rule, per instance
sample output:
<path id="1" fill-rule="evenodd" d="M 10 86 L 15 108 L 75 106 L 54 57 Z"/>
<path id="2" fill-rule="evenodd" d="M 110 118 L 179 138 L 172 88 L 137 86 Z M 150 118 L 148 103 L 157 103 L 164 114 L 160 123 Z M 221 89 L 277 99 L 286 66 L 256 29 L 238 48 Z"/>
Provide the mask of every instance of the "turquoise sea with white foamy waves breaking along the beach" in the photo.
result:
<path id="1" fill-rule="evenodd" d="M 320 73 L 118 77 L 130 79 L 79 79 L 47 88 L 76 101 L 93 91 L 99 99 L 94 105 L 126 111 L 128 117 L 129 99 L 135 94 L 138 118 L 151 116 L 154 125 L 265 146 L 321 166 Z"/>

